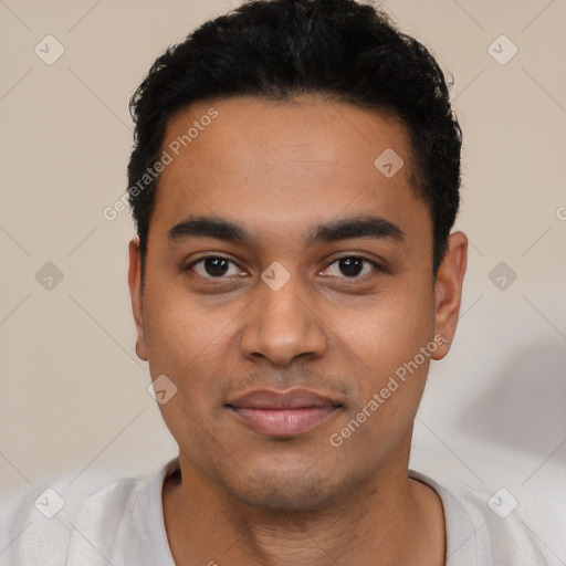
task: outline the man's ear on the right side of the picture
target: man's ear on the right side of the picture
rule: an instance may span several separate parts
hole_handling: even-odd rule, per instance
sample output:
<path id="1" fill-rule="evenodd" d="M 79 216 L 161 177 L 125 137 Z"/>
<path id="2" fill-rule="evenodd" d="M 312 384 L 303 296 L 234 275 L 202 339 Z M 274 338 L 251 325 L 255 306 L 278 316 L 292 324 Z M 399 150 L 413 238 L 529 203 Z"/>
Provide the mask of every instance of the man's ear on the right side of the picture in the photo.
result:
<path id="1" fill-rule="evenodd" d="M 442 336 L 443 342 L 432 354 L 433 359 L 442 359 L 452 345 L 460 313 L 467 261 L 467 235 L 463 232 L 450 234 L 448 252 L 439 268 L 434 287 L 434 331 L 437 335 Z"/>

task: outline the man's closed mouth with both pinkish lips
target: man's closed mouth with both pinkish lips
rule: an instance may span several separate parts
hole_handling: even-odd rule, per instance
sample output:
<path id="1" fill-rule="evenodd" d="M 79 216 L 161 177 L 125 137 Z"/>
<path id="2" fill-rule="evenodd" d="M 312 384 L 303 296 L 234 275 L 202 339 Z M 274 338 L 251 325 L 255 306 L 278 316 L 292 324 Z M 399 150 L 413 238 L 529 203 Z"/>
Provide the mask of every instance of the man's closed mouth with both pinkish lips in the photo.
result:
<path id="1" fill-rule="evenodd" d="M 280 439 L 307 432 L 342 409 L 339 402 L 306 389 L 286 392 L 255 390 L 227 403 L 227 407 L 255 432 Z"/>

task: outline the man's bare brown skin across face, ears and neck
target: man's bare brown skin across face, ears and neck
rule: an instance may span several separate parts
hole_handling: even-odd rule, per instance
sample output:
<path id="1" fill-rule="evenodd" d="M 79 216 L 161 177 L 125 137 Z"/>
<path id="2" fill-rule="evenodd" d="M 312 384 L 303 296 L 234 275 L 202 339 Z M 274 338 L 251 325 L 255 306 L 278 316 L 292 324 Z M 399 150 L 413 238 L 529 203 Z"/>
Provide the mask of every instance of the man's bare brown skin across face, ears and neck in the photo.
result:
<path id="1" fill-rule="evenodd" d="M 161 174 L 144 290 L 139 243 L 129 243 L 136 352 L 153 379 L 178 388 L 159 406 L 179 446 L 182 481 L 171 476 L 163 492 L 177 565 L 444 564 L 441 501 L 408 479 L 408 459 L 430 359 L 447 355 L 455 332 L 465 235 L 451 234 L 434 281 L 431 216 L 410 185 L 400 122 L 312 96 L 199 102 L 170 119 L 164 148 L 211 106 L 219 116 Z M 405 161 L 392 178 L 374 166 L 386 148 Z M 313 226 L 368 213 L 403 238 L 306 243 Z M 254 240 L 171 243 L 168 231 L 189 216 L 231 220 Z M 233 262 L 221 279 L 192 263 L 208 255 Z M 382 269 L 364 262 L 352 276 L 344 258 Z M 272 262 L 290 274 L 279 291 L 261 279 Z M 446 342 L 332 446 L 436 335 Z M 342 407 L 284 440 L 227 407 L 253 389 L 296 387 Z"/>

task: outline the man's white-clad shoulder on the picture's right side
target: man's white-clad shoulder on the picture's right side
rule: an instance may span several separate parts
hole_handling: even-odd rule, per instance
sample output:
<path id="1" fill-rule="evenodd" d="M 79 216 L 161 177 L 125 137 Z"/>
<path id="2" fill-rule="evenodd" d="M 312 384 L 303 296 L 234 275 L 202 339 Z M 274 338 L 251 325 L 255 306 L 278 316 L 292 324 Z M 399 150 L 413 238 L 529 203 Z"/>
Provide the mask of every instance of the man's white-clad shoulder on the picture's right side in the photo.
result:
<path id="1" fill-rule="evenodd" d="M 440 485 L 418 472 L 410 476 L 433 488 L 442 500 L 447 528 L 447 565 L 544 566 L 539 541 L 526 527 L 514 496 L 506 490 L 460 480 Z"/>

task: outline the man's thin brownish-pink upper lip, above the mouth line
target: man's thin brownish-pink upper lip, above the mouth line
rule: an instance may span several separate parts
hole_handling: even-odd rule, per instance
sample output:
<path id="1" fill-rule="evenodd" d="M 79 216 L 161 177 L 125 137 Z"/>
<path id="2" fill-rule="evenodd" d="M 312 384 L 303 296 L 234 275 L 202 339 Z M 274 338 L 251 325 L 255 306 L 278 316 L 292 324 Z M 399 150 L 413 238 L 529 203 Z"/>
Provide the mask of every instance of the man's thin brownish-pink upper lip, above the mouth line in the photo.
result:
<path id="1" fill-rule="evenodd" d="M 239 409 L 306 409 L 340 407 L 340 403 L 308 389 L 292 389 L 291 391 L 256 389 L 235 398 L 228 406 Z"/>

